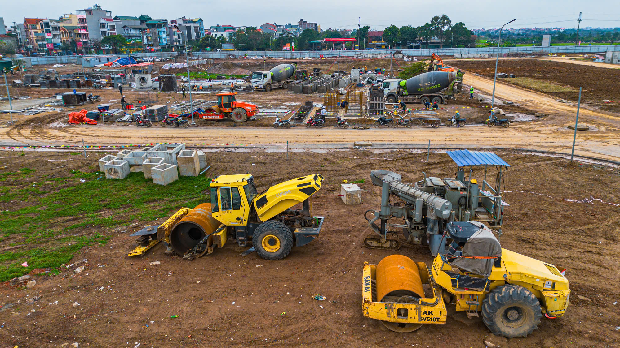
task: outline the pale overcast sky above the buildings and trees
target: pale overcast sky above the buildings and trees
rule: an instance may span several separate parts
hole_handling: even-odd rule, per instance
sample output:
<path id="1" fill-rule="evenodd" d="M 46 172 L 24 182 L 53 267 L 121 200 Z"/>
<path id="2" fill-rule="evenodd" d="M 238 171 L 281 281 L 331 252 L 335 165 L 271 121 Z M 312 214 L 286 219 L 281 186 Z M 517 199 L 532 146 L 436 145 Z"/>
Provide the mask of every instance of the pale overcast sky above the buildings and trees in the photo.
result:
<path id="1" fill-rule="evenodd" d="M 211 25 L 253 25 L 265 22 L 293 23 L 299 19 L 317 22 L 322 29 L 356 28 L 361 25 L 381 30 L 387 25 L 422 25 L 433 15 L 446 14 L 453 23 L 464 22 L 469 28 L 499 28 L 511 19 L 507 27 L 576 28 L 579 12 L 583 12 L 581 27 L 620 27 L 620 1 L 598 0 L 520 0 L 513 1 L 410 1 L 410 0 L 224 0 L 224 1 L 34 1 L 2 0 L 0 17 L 4 23 L 24 22 L 24 17 L 57 19 L 63 13 L 76 13 L 93 4 L 112 11 L 112 15 L 146 14 L 153 19 L 176 19 L 182 16 L 200 17 L 205 27 Z M 518 6 L 517 6 L 518 4 Z M 435 8 L 435 9 L 433 9 Z M 427 9 L 420 11 L 420 9 Z"/>

